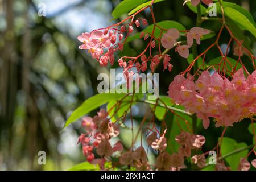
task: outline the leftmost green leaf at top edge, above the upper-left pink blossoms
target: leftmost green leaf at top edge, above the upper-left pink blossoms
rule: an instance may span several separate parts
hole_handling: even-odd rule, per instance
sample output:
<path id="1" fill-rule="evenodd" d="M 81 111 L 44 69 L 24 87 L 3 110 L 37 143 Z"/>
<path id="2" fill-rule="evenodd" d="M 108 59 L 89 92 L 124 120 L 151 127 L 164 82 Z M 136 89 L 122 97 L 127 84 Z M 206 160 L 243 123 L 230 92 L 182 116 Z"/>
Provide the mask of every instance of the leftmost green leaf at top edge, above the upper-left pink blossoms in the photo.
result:
<path id="1" fill-rule="evenodd" d="M 128 13 L 130 10 L 141 5 L 147 0 L 123 0 L 112 12 L 113 19 L 119 18 L 121 15 Z"/>

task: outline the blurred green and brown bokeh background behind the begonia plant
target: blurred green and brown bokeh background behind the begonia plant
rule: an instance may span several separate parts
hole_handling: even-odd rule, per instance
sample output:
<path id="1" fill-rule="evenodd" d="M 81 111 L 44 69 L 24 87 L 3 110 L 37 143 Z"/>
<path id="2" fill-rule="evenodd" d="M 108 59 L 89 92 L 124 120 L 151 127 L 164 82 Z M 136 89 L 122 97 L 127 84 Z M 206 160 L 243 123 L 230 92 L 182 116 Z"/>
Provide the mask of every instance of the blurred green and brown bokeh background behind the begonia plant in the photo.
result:
<path id="1" fill-rule="evenodd" d="M 86 51 L 79 50 L 76 38 L 82 32 L 117 22 L 110 20 L 112 10 L 119 2 L 0 0 L 0 170 L 64 170 L 85 161 L 81 146 L 76 145 L 82 132 L 81 121 L 64 130 L 63 126 L 77 106 L 97 93 L 97 75 L 109 73 L 110 67 L 101 68 Z M 255 0 L 230 2 L 249 10 L 256 19 Z M 180 0 L 156 3 L 156 21 L 176 20 L 187 29 L 195 26 L 196 14 L 182 3 Z M 39 16 L 44 7 L 46 16 Z M 151 24 L 148 11 L 140 16 Z M 121 19 L 125 17 L 123 15 Z M 221 26 L 213 22 L 204 25 L 215 31 Z M 227 32 L 221 38 L 224 47 L 229 40 L 225 34 Z M 255 55 L 255 38 L 247 32 L 245 34 Z M 205 41 L 199 52 L 213 41 L 214 38 Z M 127 44 L 121 54 L 133 55 L 142 49 L 143 42 L 137 40 Z M 216 49 L 209 53 L 207 60 L 217 57 L 217 52 Z M 169 53 L 175 55 L 173 50 Z M 244 56 L 243 60 L 246 59 Z M 172 78 L 188 66 L 187 61 L 179 56 L 172 56 L 172 64 L 171 73 L 162 72 L 162 67 L 156 70 L 160 73 L 160 94 L 166 94 Z M 118 68 L 118 65 L 113 67 Z M 137 105 L 134 109 L 143 117 L 145 108 Z M 96 111 L 91 113 L 95 114 Z M 249 123 L 237 123 L 228 129 L 226 136 L 251 144 L 252 135 L 247 131 Z M 199 133 L 208 141 L 204 150 L 216 145 L 221 131 L 213 125 L 207 131 L 199 127 Z M 122 139 L 129 139 L 129 134 Z M 46 165 L 38 165 L 38 151 L 42 150 L 46 151 Z"/>

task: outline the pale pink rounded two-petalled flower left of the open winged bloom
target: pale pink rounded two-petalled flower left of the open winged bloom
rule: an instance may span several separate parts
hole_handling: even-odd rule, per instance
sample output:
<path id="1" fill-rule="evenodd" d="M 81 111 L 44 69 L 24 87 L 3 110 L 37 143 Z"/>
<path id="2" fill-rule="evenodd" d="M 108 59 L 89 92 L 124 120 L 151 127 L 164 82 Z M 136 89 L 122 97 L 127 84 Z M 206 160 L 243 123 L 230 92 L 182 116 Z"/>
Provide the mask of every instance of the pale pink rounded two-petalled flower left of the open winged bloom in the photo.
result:
<path id="1" fill-rule="evenodd" d="M 174 44 L 177 43 L 177 39 L 180 36 L 179 30 L 176 28 L 171 28 L 163 34 L 161 39 L 162 46 L 166 49 L 171 49 L 174 47 Z"/>

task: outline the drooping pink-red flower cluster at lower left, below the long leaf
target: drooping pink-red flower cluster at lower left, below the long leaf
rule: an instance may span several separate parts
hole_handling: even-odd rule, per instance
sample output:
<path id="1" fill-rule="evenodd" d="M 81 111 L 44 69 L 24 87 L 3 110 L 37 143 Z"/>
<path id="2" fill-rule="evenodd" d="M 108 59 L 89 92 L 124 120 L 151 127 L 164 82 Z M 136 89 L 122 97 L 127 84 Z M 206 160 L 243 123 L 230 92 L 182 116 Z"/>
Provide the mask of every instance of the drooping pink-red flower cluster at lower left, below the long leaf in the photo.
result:
<path id="1" fill-rule="evenodd" d="M 111 156 L 115 151 L 123 150 L 121 142 L 118 141 L 113 147 L 109 142 L 112 137 L 119 135 L 119 126 L 110 122 L 107 117 L 108 113 L 104 109 L 101 109 L 93 118 L 84 117 L 82 127 L 86 133 L 80 135 L 78 142 L 82 145 L 82 152 L 86 160 L 92 164 L 99 164 L 101 169 L 104 169 L 105 157 Z M 101 158 L 95 159 L 94 149 Z"/>

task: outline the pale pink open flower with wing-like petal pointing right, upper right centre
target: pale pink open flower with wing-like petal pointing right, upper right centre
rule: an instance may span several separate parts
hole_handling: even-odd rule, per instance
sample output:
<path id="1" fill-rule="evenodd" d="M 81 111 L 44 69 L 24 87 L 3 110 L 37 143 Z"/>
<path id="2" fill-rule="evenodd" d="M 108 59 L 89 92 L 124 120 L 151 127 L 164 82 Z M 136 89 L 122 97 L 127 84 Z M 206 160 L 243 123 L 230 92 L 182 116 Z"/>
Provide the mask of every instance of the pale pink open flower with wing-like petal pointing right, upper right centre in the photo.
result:
<path id="1" fill-rule="evenodd" d="M 189 46 L 192 46 L 193 39 L 196 39 L 196 43 L 200 44 L 200 39 L 203 38 L 203 35 L 209 34 L 210 30 L 201 28 L 201 27 L 193 27 L 189 32 L 187 32 L 187 43 Z"/>

